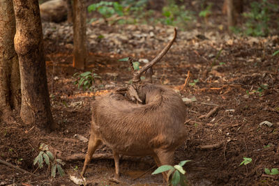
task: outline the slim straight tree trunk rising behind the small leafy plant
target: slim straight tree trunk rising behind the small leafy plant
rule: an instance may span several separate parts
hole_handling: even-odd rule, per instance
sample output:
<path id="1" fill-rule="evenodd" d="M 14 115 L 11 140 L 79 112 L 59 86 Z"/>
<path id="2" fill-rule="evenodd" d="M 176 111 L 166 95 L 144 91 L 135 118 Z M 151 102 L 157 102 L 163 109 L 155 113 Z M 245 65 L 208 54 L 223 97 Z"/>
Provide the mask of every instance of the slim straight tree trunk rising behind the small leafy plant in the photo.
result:
<path id="1" fill-rule="evenodd" d="M 73 29 L 74 29 L 74 50 L 73 67 L 84 69 L 86 66 L 86 9 L 84 0 L 73 1 Z"/>

